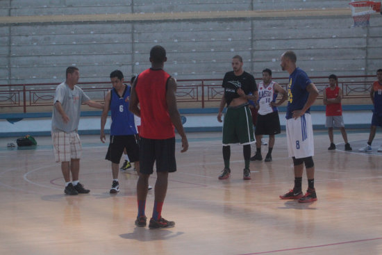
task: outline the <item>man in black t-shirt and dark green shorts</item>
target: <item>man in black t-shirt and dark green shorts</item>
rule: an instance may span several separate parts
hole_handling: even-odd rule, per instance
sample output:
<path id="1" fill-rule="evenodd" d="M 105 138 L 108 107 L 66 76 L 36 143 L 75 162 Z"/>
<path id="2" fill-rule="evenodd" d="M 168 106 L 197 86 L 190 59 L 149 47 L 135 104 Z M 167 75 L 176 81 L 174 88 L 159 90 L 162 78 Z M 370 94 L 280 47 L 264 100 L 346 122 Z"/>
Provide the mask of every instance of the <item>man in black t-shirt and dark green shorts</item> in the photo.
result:
<path id="1" fill-rule="evenodd" d="M 232 58 L 233 71 L 227 72 L 223 79 L 222 87 L 224 96 L 220 101 L 217 121 L 222 122 L 222 112 L 227 105 L 223 123 L 223 159 L 224 170 L 219 175 L 220 180 L 231 176 L 229 161 L 231 158 L 231 144 L 243 145 L 245 167 L 243 179 L 251 179 L 249 163 L 251 158 L 251 143 L 255 142 L 254 126 L 252 124 L 251 110 L 248 100 L 257 101 L 258 91 L 254 76 L 244 72 L 241 56 Z M 251 94 L 250 94 L 251 93 Z"/>

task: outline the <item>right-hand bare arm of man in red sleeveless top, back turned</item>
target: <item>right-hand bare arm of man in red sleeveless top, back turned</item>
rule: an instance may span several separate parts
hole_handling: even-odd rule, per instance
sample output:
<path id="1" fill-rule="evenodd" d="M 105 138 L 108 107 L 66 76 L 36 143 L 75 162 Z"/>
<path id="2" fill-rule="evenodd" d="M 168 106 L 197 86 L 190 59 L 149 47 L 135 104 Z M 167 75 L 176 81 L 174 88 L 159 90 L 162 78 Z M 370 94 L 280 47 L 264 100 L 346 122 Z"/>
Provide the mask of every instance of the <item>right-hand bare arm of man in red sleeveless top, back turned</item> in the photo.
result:
<path id="1" fill-rule="evenodd" d="M 179 114 L 178 107 L 176 106 L 176 81 L 174 78 L 170 78 L 167 83 L 167 91 L 166 91 L 166 101 L 167 107 L 169 110 L 169 117 L 174 124 L 178 134 L 181 135 L 182 138 L 182 150 L 181 152 L 185 152 L 188 150 L 188 140 L 183 130 L 183 125 L 181 121 L 181 115 Z"/>

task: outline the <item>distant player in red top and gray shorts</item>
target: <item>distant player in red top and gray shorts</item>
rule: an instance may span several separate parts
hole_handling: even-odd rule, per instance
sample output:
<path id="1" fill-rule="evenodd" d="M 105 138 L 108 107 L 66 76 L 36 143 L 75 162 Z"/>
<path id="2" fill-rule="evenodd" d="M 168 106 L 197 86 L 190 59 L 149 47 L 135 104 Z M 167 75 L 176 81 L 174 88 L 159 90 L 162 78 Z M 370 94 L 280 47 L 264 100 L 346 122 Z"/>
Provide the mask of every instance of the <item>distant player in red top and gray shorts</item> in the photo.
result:
<path id="1" fill-rule="evenodd" d="M 347 141 L 347 133 L 344 128 L 344 119 L 342 117 L 342 90 L 336 85 L 337 76 L 331 74 L 329 76 L 329 87 L 324 90 L 324 105 L 326 105 L 326 124 L 328 128 L 329 140 L 331 145 L 329 150 L 335 149 L 333 142 L 333 127 L 340 128 L 342 138 L 345 142 L 345 151 L 351 151 L 349 142 Z"/>

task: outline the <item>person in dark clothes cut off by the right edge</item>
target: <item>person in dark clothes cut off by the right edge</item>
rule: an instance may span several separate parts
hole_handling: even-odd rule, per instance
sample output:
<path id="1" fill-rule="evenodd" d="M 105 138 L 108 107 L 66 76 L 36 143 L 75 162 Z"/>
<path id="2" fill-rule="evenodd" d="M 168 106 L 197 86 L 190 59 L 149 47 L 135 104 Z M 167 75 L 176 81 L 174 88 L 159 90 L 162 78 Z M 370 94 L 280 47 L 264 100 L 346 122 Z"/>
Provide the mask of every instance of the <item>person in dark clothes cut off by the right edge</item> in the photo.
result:
<path id="1" fill-rule="evenodd" d="M 376 70 L 376 78 L 378 81 L 374 81 L 372 88 L 370 89 L 370 99 L 372 99 L 374 109 L 369 140 L 367 140 L 367 145 L 358 149 L 358 151 L 372 151 L 372 142 L 376 133 L 376 126 L 382 126 L 382 69 Z M 382 152 L 382 145 L 378 148 L 377 151 Z"/>

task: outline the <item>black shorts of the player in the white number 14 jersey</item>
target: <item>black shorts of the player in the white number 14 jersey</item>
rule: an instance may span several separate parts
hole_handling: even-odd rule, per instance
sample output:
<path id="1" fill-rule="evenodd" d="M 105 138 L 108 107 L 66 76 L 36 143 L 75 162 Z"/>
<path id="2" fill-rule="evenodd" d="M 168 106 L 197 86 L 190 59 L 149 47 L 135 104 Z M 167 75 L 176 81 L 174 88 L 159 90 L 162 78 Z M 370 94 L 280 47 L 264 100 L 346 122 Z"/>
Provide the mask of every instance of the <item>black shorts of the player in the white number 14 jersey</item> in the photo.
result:
<path id="1" fill-rule="evenodd" d="M 276 135 L 281 133 L 279 112 L 258 115 L 255 135 Z"/>

